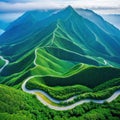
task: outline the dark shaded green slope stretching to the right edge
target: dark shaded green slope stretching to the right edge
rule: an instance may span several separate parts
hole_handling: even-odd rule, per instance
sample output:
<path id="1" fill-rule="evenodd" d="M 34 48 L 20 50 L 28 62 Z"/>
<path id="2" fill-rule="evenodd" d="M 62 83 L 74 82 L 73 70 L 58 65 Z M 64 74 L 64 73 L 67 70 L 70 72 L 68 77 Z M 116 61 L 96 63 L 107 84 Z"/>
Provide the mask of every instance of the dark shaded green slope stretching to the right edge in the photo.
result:
<path id="1" fill-rule="evenodd" d="M 91 76 L 94 75 L 94 76 Z M 63 75 L 62 77 L 41 77 L 36 78 L 39 82 L 45 85 L 54 86 L 69 86 L 81 84 L 90 88 L 94 88 L 108 80 L 120 77 L 120 69 L 110 67 L 88 67 L 84 70 L 78 69 L 77 74 Z M 89 81 L 89 82 L 88 82 Z"/>

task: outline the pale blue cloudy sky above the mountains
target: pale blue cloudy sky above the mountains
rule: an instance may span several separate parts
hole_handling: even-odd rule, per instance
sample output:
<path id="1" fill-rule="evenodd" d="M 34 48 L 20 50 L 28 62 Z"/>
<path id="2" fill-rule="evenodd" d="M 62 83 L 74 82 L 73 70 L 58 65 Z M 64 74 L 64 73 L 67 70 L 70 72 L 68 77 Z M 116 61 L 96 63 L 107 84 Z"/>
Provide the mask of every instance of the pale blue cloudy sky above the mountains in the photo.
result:
<path id="1" fill-rule="evenodd" d="M 120 14 L 120 0 L 0 0 L 0 21 L 10 22 L 28 10 L 87 8 L 99 14 Z"/>

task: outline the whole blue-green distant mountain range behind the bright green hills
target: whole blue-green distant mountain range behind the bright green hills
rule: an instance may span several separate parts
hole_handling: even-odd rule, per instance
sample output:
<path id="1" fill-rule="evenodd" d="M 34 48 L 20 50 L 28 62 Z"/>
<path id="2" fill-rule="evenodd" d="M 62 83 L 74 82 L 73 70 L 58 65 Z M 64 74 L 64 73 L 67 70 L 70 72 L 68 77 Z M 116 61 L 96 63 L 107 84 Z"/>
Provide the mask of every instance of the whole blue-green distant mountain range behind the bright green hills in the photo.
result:
<path id="1" fill-rule="evenodd" d="M 0 44 L 4 46 L 1 53 L 20 57 L 36 46 L 54 46 L 89 56 L 85 58 L 92 61 L 104 56 L 114 62 L 119 61 L 119 35 L 117 28 L 90 10 L 79 9 L 79 15 L 70 6 L 56 13 L 31 11 L 11 23 L 0 36 Z M 27 44 L 29 41 L 31 45 Z M 14 46 L 10 47 L 11 44 Z"/>

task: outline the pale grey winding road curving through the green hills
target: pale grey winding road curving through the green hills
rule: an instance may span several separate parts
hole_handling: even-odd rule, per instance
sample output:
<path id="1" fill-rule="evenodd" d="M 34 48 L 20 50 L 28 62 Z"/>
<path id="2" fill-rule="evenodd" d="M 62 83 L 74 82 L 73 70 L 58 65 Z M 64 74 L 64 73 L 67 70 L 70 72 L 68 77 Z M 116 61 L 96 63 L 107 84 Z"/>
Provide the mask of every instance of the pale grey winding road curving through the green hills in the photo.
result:
<path id="1" fill-rule="evenodd" d="M 5 61 L 5 64 L 4 66 L 0 69 L 0 72 L 2 72 L 2 70 L 9 64 L 9 61 L 4 59 L 2 56 L 0 56 L 0 59 L 2 59 L 3 61 Z M 37 59 L 37 49 L 35 50 L 35 59 L 34 59 L 34 65 L 37 66 L 37 63 L 36 63 L 36 59 Z M 74 107 L 78 106 L 78 105 L 81 105 L 83 103 L 89 103 L 89 102 L 94 102 L 94 103 L 98 103 L 98 104 L 102 104 L 104 103 L 105 101 L 107 102 L 111 102 L 113 101 L 114 99 L 116 99 L 119 95 L 120 95 L 120 90 L 117 90 L 116 92 L 113 93 L 113 95 L 107 99 L 104 99 L 104 100 L 95 100 L 95 99 L 84 99 L 84 100 L 80 100 L 76 103 L 73 103 L 71 105 L 68 105 L 68 106 L 57 106 L 57 104 L 61 103 L 61 102 L 68 102 L 68 101 L 72 101 L 74 98 L 76 98 L 77 96 L 73 96 L 67 100 L 57 100 L 57 99 L 54 99 L 52 98 L 49 94 L 47 94 L 46 92 L 44 92 L 43 90 L 28 90 L 26 88 L 26 83 L 32 79 L 32 78 L 35 78 L 35 77 L 42 77 L 42 75 L 34 75 L 34 76 L 31 76 L 31 77 L 28 77 L 26 80 L 24 80 L 23 84 L 22 84 L 22 90 L 26 93 L 29 93 L 29 94 L 35 94 L 37 99 L 43 103 L 44 105 L 48 106 L 49 108 L 51 109 L 54 109 L 54 110 L 58 110 L 58 111 L 64 111 L 64 110 L 70 110 L 70 109 L 73 109 Z M 45 100 L 42 96 L 40 96 L 39 94 L 45 96 L 48 100 L 50 100 L 51 102 L 55 103 L 56 105 L 54 104 L 50 104 L 47 100 Z"/>

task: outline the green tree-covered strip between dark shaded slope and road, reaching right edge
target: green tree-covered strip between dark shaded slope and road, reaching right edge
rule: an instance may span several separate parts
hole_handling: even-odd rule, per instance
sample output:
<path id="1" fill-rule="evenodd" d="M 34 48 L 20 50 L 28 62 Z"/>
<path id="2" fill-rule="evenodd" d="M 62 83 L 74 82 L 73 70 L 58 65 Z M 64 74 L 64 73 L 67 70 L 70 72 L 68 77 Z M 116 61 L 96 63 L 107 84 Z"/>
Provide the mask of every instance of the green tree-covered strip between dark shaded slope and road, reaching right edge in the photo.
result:
<path id="1" fill-rule="evenodd" d="M 38 81 L 30 81 L 27 83 L 28 89 L 40 89 L 46 91 L 50 96 L 57 99 L 68 99 L 69 97 L 77 95 L 77 101 L 85 98 L 105 99 L 110 97 L 116 90 L 120 89 L 119 79 L 111 80 L 110 86 L 105 82 L 100 86 L 90 89 L 82 85 L 67 86 L 67 87 L 48 87 L 41 85 Z M 105 86 L 105 87 L 104 87 Z"/>

